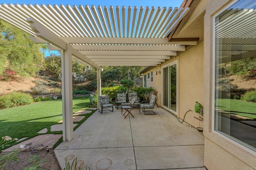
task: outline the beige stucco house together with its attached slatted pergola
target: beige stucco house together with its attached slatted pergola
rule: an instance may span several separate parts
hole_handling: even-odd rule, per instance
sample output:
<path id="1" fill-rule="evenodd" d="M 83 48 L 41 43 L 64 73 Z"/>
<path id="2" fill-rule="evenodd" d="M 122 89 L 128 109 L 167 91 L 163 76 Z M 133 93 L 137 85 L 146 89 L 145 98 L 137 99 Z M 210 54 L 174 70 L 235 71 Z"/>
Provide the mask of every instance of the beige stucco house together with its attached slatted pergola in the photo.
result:
<path id="1" fill-rule="evenodd" d="M 236 75 L 239 70 L 247 73 L 241 68 L 248 65 L 256 71 L 252 69 L 256 67 L 256 2 L 184 0 L 181 7 L 174 12 L 165 8 L 168 15 L 159 8 L 159 18 L 152 15 L 154 8 L 140 8 L 141 20 L 135 22 L 133 15 L 133 22 L 126 23 L 121 20 L 121 8 L 116 7 L 115 16 L 113 6 L 110 12 L 104 7 L 104 13 L 98 6 L 98 15 L 95 6 L 1 4 L 0 19 L 30 34 L 34 42 L 60 50 L 63 140 L 73 138 L 72 59 L 97 69 L 98 95 L 101 66 L 150 65 L 141 72 L 143 86 L 158 91 L 160 107 L 183 119 L 196 101 L 203 105 L 201 120 L 192 112 L 185 121 L 203 128 L 207 169 L 256 169 L 256 103 L 238 100 L 255 91 L 256 83 L 254 77 L 241 80 Z M 146 20 L 148 11 L 151 18 Z M 111 22 L 110 17 L 118 21 Z M 246 89 L 236 86 L 234 77 Z"/>

